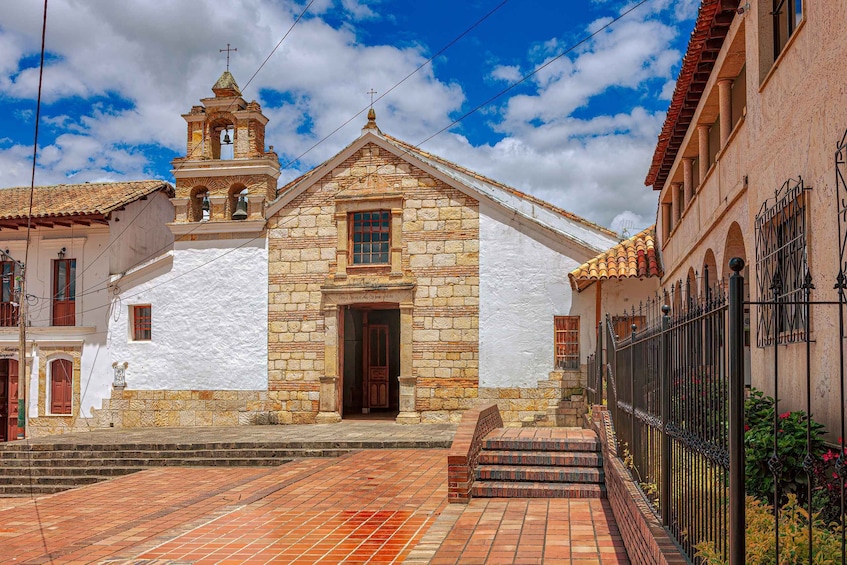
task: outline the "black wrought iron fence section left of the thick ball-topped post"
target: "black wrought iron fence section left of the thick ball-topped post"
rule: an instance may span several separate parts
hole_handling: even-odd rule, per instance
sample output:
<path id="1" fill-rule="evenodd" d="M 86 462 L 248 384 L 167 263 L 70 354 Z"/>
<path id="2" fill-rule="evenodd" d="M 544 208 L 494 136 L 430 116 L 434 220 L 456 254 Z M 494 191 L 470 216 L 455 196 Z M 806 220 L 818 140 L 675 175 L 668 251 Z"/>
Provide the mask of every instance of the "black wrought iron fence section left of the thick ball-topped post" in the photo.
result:
<path id="1" fill-rule="evenodd" d="M 665 526 L 689 556 L 702 542 L 725 556 L 726 299 L 719 287 L 677 292 L 607 317 L 607 403 L 618 452 Z"/>

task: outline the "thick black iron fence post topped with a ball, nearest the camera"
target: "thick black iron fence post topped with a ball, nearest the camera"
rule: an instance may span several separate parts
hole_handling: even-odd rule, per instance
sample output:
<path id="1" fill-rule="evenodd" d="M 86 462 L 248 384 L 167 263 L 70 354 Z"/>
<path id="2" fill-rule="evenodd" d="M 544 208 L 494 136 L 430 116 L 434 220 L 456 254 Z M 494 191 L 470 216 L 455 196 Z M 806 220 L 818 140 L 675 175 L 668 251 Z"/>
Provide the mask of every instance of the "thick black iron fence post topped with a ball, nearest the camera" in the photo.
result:
<path id="1" fill-rule="evenodd" d="M 744 261 L 729 261 L 729 564 L 745 559 L 744 516 Z"/>

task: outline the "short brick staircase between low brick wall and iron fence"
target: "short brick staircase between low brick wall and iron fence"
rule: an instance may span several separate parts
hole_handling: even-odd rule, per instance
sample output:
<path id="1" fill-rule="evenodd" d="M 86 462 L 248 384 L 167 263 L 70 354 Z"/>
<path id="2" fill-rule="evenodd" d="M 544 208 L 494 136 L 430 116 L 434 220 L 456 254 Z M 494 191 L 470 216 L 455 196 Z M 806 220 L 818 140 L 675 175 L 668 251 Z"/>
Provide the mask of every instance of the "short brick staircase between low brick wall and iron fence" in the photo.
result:
<path id="1" fill-rule="evenodd" d="M 605 498 L 597 434 L 499 428 L 483 441 L 471 494 L 483 498 Z"/>

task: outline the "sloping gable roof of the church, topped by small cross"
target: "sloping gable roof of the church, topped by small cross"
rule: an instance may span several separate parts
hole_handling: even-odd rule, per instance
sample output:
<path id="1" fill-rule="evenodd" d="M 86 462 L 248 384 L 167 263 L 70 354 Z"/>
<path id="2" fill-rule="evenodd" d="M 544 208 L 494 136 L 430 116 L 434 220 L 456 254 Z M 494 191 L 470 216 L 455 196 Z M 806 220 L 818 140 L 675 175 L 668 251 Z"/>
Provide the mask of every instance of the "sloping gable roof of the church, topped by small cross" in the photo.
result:
<path id="1" fill-rule="evenodd" d="M 373 118 L 369 116 L 369 124 Z M 355 151 L 374 143 L 401 157 L 417 168 L 441 178 L 447 184 L 469 194 L 476 200 L 486 200 L 505 209 L 510 215 L 564 237 L 578 245 L 587 256 L 608 247 L 617 234 L 576 214 L 563 210 L 544 200 L 523 193 L 510 186 L 491 180 L 474 171 L 422 151 L 397 138 L 382 133 L 379 128 L 366 126 L 362 135 L 334 157 L 324 161 L 307 173 L 279 189 L 279 196 L 268 206 L 269 215 L 276 213 L 287 202 L 306 190 L 311 184 Z M 319 174 L 320 173 L 320 174 Z"/>

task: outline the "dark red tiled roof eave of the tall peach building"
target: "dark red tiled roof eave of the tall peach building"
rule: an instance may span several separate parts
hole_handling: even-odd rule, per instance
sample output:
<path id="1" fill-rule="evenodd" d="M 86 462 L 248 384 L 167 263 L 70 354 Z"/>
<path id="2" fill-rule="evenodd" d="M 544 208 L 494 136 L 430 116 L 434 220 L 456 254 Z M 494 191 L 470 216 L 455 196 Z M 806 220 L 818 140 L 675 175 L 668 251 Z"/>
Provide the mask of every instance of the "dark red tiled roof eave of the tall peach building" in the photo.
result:
<path id="1" fill-rule="evenodd" d="M 656 143 L 647 179 L 644 181 L 646 186 L 652 185 L 655 190 L 661 190 L 664 186 L 682 138 L 694 117 L 694 109 L 717 60 L 717 53 L 735 16 L 738 3 L 738 0 L 701 2 L 697 23 L 691 32 L 673 98 Z"/>

